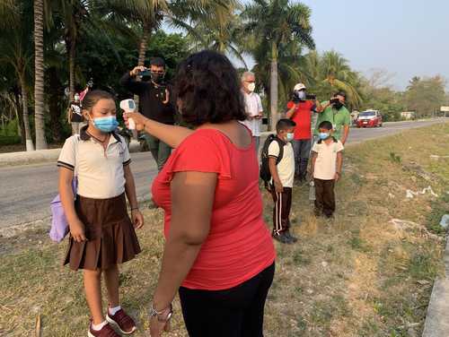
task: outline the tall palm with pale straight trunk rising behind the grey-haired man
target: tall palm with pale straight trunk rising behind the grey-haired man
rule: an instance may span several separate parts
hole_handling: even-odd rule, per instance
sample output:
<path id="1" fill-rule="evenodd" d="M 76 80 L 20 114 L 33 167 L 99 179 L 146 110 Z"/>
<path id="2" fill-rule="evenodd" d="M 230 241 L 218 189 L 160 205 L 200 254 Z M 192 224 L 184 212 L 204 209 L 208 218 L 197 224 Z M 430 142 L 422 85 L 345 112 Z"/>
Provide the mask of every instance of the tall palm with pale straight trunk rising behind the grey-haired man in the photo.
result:
<path id="1" fill-rule="evenodd" d="M 274 129 L 278 119 L 278 60 L 282 45 L 299 41 L 307 48 L 315 47 L 310 23 L 311 10 L 288 0 L 254 0 L 242 13 L 244 30 L 267 51 L 270 61 L 270 123 Z"/>

